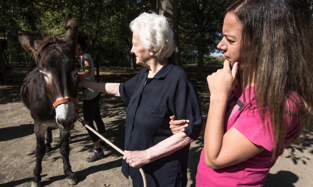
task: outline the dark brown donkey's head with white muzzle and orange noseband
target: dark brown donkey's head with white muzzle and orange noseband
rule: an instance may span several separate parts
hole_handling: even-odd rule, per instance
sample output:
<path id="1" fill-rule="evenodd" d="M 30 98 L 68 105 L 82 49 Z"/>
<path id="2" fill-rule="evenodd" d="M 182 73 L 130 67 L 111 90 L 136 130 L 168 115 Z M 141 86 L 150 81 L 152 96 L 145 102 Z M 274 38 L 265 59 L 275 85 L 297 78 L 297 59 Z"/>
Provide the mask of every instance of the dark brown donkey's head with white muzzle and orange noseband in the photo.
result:
<path id="1" fill-rule="evenodd" d="M 78 90 L 79 63 L 75 55 L 77 24 L 72 15 L 66 17 L 64 39 L 48 36 L 43 40 L 32 39 L 19 32 L 19 42 L 30 51 L 41 76 L 45 90 L 53 103 L 56 122 L 64 129 L 71 130 L 77 120 L 75 101 Z"/>

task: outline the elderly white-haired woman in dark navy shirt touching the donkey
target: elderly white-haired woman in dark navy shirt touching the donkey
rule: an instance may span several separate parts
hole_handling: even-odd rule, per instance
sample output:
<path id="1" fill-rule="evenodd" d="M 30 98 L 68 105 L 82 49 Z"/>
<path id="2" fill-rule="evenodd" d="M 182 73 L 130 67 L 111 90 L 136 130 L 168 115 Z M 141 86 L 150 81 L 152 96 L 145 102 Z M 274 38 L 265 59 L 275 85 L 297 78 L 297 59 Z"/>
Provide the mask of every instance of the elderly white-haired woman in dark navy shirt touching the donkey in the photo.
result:
<path id="1" fill-rule="evenodd" d="M 125 155 L 122 172 L 133 185 L 185 187 L 190 143 L 197 139 L 201 112 L 196 92 L 185 71 L 169 59 L 174 50 L 173 31 L 166 18 L 142 13 L 130 23 L 131 52 L 144 68 L 129 81 L 92 83 L 80 77 L 84 87 L 122 97 L 126 108 Z M 170 116 L 189 119 L 184 132 L 172 134 Z"/>

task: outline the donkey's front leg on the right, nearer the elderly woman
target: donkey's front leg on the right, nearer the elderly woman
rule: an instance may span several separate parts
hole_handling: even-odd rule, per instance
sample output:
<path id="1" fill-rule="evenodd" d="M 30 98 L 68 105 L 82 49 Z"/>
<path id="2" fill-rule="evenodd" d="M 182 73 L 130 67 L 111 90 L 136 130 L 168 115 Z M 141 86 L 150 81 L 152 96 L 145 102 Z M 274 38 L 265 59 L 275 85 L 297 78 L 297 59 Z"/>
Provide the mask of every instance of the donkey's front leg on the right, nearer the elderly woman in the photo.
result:
<path id="1" fill-rule="evenodd" d="M 63 158 L 63 170 L 69 185 L 76 185 L 77 179 L 69 164 L 69 131 L 60 129 L 60 152 Z"/>

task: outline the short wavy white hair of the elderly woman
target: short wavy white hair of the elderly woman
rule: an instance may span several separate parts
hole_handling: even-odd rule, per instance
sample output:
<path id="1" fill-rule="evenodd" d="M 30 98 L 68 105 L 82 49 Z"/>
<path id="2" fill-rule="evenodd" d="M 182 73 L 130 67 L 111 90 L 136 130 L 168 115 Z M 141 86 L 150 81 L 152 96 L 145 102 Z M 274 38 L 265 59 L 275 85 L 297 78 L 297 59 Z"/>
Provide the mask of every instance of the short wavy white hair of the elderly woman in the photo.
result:
<path id="1" fill-rule="evenodd" d="M 165 16 L 142 13 L 129 24 L 132 32 L 139 29 L 143 45 L 159 59 L 169 58 L 174 51 L 174 33 Z"/>

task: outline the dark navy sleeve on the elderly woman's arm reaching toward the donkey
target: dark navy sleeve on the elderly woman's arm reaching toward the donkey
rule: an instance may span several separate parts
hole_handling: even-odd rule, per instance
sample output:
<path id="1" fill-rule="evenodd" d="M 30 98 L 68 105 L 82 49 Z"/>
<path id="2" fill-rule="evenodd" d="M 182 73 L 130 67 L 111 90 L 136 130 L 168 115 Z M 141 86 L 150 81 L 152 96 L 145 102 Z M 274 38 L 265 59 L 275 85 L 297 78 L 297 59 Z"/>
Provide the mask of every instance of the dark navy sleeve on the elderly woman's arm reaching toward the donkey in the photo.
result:
<path id="1" fill-rule="evenodd" d="M 119 85 L 119 94 L 121 95 L 121 98 L 123 99 L 123 102 L 126 104 L 126 106 L 129 103 L 130 97 L 135 92 L 139 74 L 140 72 L 135 77 Z"/>

